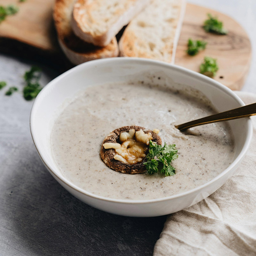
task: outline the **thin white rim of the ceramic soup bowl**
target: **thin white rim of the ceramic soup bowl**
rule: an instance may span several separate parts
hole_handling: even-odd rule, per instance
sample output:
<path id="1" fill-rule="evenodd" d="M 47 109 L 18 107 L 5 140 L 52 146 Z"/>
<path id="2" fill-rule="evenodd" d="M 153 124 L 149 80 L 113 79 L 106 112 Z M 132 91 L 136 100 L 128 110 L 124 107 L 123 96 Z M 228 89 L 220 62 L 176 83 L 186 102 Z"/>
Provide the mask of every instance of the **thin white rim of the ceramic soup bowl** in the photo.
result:
<path id="1" fill-rule="evenodd" d="M 248 133 L 247 133 L 246 138 L 245 138 L 245 143 L 244 143 L 244 146 L 243 146 L 240 154 L 236 157 L 236 159 L 234 159 L 234 161 L 223 172 L 221 172 L 219 175 L 217 175 L 212 180 L 209 180 L 208 182 L 206 182 L 203 185 L 200 185 L 196 188 L 189 189 L 187 191 L 184 191 L 184 192 L 181 192 L 181 193 L 178 193 L 178 194 L 174 194 L 172 196 L 166 196 L 166 197 L 155 198 L 155 199 L 146 199 L 146 200 L 116 199 L 116 198 L 110 198 L 110 197 L 105 197 L 105 196 L 99 196 L 99 195 L 92 194 L 91 192 L 88 192 L 85 189 L 79 188 L 78 186 L 76 186 L 75 184 L 73 184 L 72 182 L 67 180 L 63 175 L 61 176 L 61 175 L 58 174 L 58 172 L 56 172 L 55 170 L 52 170 L 49 167 L 49 164 L 47 163 L 47 161 L 44 157 L 44 152 L 42 152 L 42 150 L 40 149 L 40 147 L 37 143 L 37 139 L 36 139 L 36 135 L 35 135 L 35 127 L 34 127 L 34 121 L 33 120 L 36 116 L 36 108 L 37 108 L 37 105 L 40 104 L 41 98 L 43 98 L 44 95 L 47 94 L 47 91 L 51 88 L 51 86 L 53 86 L 59 80 L 61 80 L 65 76 L 68 76 L 70 73 L 74 72 L 75 70 L 83 70 L 84 67 L 90 67 L 90 66 L 95 65 L 97 63 L 100 63 L 100 64 L 106 63 L 107 64 L 109 62 L 118 62 L 118 61 L 124 62 L 124 64 L 127 64 L 129 62 L 130 62 L 130 64 L 131 63 L 136 64 L 136 63 L 145 63 L 146 62 L 147 64 L 157 65 L 157 66 L 160 66 L 160 67 L 167 67 L 167 68 L 170 68 L 172 70 L 178 71 L 180 73 L 185 73 L 186 75 L 192 76 L 196 79 L 199 79 L 203 82 L 206 82 L 206 83 L 210 84 L 211 86 L 217 87 L 222 92 L 225 92 L 228 95 L 230 95 L 241 106 L 245 105 L 244 102 L 232 90 L 230 90 L 225 85 L 217 82 L 216 80 L 214 80 L 214 79 L 212 79 L 208 76 L 202 75 L 200 73 L 197 73 L 196 71 L 190 70 L 188 68 L 183 68 L 181 66 L 170 64 L 170 63 L 167 63 L 167 62 L 163 62 L 163 61 L 159 61 L 159 60 L 151 60 L 151 59 L 146 59 L 146 58 L 137 58 L 137 57 L 113 57 L 113 58 L 105 58 L 105 59 L 100 59 L 100 60 L 91 60 L 91 61 L 82 63 L 82 64 L 80 64 L 80 65 L 78 65 L 74 68 L 69 69 L 68 71 L 64 72 L 60 76 L 57 76 L 52 81 L 50 81 L 48 84 L 46 84 L 44 86 L 44 88 L 41 90 L 41 92 L 37 95 L 37 97 L 36 97 L 36 99 L 33 103 L 33 106 L 31 108 L 31 112 L 30 112 L 29 125 L 30 125 L 30 133 L 31 133 L 31 136 L 32 136 L 32 140 L 34 142 L 37 153 L 39 154 L 42 162 L 44 163 L 44 165 L 47 167 L 48 171 L 52 174 L 52 176 L 55 179 L 57 178 L 57 179 L 61 180 L 68 187 L 70 187 L 71 189 L 76 190 L 76 192 L 79 192 L 79 193 L 84 194 L 86 196 L 92 197 L 94 199 L 104 200 L 104 201 L 108 201 L 108 202 L 115 202 L 115 203 L 123 203 L 123 204 L 147 204 L 147 203 L 168 201 L 168 200 L 171 200 L 171 199 L 187 196 L 188 194 L 192 194 L 192 193 L 194 193 L 196 191 L 199 191 L 199 190 L 201 190 L 205 187 L 208 187 L 209 185 L 211 185 L 212 183 L 214 183 L 215 181 L 219 180 L 221 177 L 226 175 L 228 172 L 230 172 L 236 166 L 236 164 L 238 164 L 240 162 L 240 160 L 243 159 L 245 153 L 247 152 L 247 150 L 248 150 L 248 148 L 251 144 L 251 140 L 252 140 L 252 131 L 253 131 L 253 129 L 252 129 L 252 120 L 251 120 L 250 117 L 247 117 Z"/>

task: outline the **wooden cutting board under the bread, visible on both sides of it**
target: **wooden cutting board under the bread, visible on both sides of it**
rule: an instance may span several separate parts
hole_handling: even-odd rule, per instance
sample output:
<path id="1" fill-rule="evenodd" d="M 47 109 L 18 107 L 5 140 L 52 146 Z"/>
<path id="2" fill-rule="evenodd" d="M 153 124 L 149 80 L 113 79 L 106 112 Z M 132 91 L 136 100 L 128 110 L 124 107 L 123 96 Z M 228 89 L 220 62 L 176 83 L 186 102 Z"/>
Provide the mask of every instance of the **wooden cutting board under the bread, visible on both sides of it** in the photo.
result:
<path id="1" fill-rule="evenodd" d="M 27 0 L 21 3 L 18 0 L 0 0 L 0 5 L 15 4 L 20 8 L 17 14 L 8 16 L 0 23 L 0 38 L 4 42 L 0 44 L 0 51 L 6 48 L 14 51 L 16 47 L 9 43 L 11 40 L 39 49 L 41 55 L 62 59 L 52 21 L 53 3 L 54 0 Z M 207 13 L 216 15 L 223 21 L 224 27 L 229 31 L 228 35 L 214 35 L 204 31 L 202 24 Z M 207 41 L 206 49 L 196 56 L 189 56 L 185 52 L 188 38 Z M 214 77 L 215 80 L 232 90 L 243 87 L 251 61 L 251 44 L 244 29 L 223 13 L 187 4 L 175 64 L 199 71 L 204 56 L 211 56 L 218 61 L 219 71 Z"/>

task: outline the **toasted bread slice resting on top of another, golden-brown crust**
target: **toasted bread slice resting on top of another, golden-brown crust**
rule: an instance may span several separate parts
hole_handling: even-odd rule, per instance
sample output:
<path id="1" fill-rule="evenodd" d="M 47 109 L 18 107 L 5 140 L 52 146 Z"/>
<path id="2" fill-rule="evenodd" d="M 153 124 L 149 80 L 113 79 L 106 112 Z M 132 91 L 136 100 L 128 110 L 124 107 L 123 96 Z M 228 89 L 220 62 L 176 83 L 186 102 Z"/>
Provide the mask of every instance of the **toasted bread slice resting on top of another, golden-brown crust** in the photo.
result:
<path id="1" fill-rule="evenodd" d="M 77 0 L 72 29 L 85 42 L 106 46 L 151 0 Z"/>

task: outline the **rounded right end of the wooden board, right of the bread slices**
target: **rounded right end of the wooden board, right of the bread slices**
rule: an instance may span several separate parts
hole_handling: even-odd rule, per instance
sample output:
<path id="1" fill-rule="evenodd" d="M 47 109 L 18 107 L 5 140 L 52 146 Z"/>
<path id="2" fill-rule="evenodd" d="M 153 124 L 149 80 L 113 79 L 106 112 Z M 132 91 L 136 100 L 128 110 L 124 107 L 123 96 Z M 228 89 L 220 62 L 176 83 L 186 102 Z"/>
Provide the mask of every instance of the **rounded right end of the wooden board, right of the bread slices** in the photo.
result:
<path id="1" fill-rule="evenodd" d="M 214 35 L 204 31 L 202 24 L 206 20 L 207 13 L 218 16 L 224 27 L 228 29 L 228 35 Z M 206 49 L 196 56 L 189 56 L 185 52 L 188 38 L 203 39 L 208 42 Z M 214 79 L 232 90 L 241 90 L 250 68 L 251 55 L 250 39 L 235 20 L 223 13 L 187 4 L 175 64 L 198 71 L 204 56 L 210 56 L 217 59 L 219 65 L 219 71 Z"/>

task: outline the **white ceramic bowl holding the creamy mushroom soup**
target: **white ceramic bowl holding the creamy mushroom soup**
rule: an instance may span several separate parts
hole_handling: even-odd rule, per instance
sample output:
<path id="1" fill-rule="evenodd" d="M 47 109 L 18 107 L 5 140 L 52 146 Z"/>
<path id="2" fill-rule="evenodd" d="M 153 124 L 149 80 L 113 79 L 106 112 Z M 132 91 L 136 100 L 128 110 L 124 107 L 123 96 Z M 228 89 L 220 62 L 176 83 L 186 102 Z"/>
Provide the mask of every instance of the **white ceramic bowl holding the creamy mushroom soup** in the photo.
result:
<path id="1" fill-rule="evenodd" d="M 30 116 L 30 130 L 36 149 L 52 176 L 72 195 L 100 210 L 125 216 L 160 216 L 196 204 L 220 188 L 235 172 L 252 138 L 250 118 L 229 121 L 235 137 L 234 161 L 213 180 L 189 191 L 152 200 L 121 200 L 94 195 L 68 181 L 56 166 L 50 145 L 54 120 L 78 91 L 87 86 L 117 81 L 151 80 L 188 85 L 203 92 L 222 112 L 244 106 L 234 92 L 207 76 L 164 62 L 138 58 L 94 60 L 72 68 L 47 84 L 36 97 Z M 156 78 L 154 78 L 156 77 Z M 159 82 L 159 81 L 157 81 Z"/>

